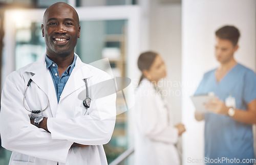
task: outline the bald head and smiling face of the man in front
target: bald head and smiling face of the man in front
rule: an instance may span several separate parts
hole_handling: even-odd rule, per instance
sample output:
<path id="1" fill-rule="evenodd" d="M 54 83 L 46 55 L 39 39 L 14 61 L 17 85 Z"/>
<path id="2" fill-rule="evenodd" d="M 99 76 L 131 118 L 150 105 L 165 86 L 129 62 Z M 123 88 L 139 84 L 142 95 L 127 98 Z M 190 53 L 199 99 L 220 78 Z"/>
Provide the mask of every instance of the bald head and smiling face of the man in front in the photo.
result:
<path id="1" fill-rule="evenodd" d="M 74 8 L 65 3 L 53 4 L 45 12 L 41 28 L 48 56 L 73 56 L 80 37 L 79 18 Z"/>

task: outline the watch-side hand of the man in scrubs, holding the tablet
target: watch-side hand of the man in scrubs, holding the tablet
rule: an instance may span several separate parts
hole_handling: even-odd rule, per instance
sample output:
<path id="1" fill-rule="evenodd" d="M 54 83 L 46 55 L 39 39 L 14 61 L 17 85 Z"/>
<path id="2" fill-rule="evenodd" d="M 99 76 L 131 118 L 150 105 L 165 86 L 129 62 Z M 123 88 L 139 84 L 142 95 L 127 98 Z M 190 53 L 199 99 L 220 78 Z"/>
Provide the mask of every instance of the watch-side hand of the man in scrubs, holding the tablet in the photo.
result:
<path id="1" fill-rule="evenodd" d="M 205 107 L 209 109 L 210 112 L 219 114 L 219 115 L 228 115 L 228 107 L 225 103 L 219 98 L 209 100 Z"/>

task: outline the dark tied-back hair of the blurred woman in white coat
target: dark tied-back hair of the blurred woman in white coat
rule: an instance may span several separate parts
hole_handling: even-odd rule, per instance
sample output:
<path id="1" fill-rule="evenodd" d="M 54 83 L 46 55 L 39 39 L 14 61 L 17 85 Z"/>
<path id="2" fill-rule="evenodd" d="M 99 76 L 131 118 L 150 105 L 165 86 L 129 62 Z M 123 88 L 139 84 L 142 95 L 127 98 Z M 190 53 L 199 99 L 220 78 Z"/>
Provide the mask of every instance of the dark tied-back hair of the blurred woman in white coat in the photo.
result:
<path id="1" fill-rule="evenodd" d="M 142 75 L 139 80 L 139 85 L 140 82 L 143 78 L 145 78 L 143 74 L 143 70 L 150 70 L 150 67 L 152 66 L 153 62 L 155 61 L 158 53 L 154 51 L 146 51 L 140 54 L 140 57 L 138 59 L 138 68 L 142 72 Z"/>

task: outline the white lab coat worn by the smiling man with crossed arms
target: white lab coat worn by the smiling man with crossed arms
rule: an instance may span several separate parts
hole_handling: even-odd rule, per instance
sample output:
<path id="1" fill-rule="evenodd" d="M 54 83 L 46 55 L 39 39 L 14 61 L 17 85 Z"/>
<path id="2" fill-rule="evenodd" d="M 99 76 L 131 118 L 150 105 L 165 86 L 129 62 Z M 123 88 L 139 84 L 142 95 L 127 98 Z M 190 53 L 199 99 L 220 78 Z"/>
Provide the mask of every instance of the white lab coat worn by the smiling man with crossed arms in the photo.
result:
<path id="1" fill-rule="evenodd" d="M 92 102 L 86 111 L 82 105 L 85 96 L 78 95 L 86 89 L 82 79 L 88 77 Z M 32 118 L 48 117 L 47 126 L 51 133 L 30 124 L 31 113 L 23 105 L 30 78 L 33 81 L 26 95 L 26 106 L 30 110 L 44 109 L 49 98 L 50 106 L 46 111 L 32 114 Z M 82 63 L 77 57 L 58 103 L 45 56 L 12 72 L 5 81 L 0 113 L 2 146 L 13 151 L 9 164 L 108 164 L 102 145 L 110 141 L 114 130 L 116 94 L 96 98 L 94 93 L 97 91 L 90 89 L 106 79 L 111 79 L 110 75 Z M 99 87 L 97 90 L 104 88 L 111 87 Z M 90 146 L 71 148 L 74 142 Z"/>

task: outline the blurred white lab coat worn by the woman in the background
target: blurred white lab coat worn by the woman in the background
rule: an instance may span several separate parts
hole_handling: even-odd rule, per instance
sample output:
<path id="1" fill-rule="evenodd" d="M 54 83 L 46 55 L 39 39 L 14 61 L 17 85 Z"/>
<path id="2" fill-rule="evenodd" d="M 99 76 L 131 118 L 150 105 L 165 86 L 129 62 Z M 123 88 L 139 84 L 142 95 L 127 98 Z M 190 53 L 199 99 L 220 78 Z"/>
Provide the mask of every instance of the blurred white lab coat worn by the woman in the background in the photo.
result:
<path id="1" fill-rule="evenodd" d="M 145 78 L 137 88 L 134 110 L 135 164 L 180 164 L 178 129 L 168 103 Z"/>

